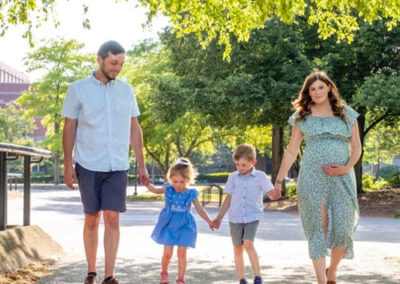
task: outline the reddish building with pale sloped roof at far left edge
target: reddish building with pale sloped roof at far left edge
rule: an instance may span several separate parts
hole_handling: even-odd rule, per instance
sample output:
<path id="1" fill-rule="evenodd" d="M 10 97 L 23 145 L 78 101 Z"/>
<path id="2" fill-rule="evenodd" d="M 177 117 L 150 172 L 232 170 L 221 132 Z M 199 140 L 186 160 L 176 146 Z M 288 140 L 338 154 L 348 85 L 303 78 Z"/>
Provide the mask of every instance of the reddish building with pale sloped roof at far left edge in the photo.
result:
<path id="1" fill-rule="evenodd" d="M 29 88 L 29 78 L 22 72 L 15 70 L 0 61 L 0 107 L 12 104 L 21 96 L 23 91 Z M 36 118 L 36 130 L 33 133 L 34 140 L 43 140 L 46 129 L 41 125 L 40 118 Z"/>

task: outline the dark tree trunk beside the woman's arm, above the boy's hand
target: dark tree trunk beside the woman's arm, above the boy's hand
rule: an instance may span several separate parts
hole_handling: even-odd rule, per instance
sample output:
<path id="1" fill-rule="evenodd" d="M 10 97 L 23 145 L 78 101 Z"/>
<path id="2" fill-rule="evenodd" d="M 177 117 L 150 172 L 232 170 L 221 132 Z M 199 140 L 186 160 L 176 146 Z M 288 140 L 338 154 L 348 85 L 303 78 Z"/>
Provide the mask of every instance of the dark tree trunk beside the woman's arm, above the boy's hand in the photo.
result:
<path id="1" fill-rule="evenodd" d="M 275 183 L 276 178 L 278 176 L 279 167 L 281 166 L 281 162 L 284 154 L 284 136 L 283 136 L 283 127 L 273 127 L 272 128 L 272 174 L 271 179 L 272 183 Z M 283 195 L 285 193 L 285 181 L 282 181 L 282 190 Z"/>

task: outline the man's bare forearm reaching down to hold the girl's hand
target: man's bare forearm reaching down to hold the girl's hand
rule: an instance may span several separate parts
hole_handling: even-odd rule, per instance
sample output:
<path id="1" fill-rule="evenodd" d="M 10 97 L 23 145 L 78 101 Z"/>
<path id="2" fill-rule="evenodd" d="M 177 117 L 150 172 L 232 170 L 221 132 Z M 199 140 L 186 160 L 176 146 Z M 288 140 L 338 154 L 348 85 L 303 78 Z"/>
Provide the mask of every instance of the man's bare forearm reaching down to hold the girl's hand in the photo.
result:
<path id="1" fill-rule="evenodd" d="M 146 164 L 144 162 L 143 154 L 143 134 L 139 121 L 136 117 L 131 119 L 131 137 L 130 142 L 135 152 L 136 160 L 139 164 L 139 178 L 143 185 L 149 184 L 149 174 L 147 173 Z"/>

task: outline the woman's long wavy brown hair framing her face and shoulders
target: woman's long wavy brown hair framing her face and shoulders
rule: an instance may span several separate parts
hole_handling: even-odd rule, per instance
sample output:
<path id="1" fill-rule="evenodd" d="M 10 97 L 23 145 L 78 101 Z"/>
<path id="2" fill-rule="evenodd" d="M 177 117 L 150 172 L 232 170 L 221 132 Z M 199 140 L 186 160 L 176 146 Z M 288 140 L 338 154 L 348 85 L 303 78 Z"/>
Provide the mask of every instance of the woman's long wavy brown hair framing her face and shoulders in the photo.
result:
<path id="1" fill-rule="evenodd" d="M 346 122 L 347 117 L 344 113 L 344 107 L 346 106 L 346 103 L 343 99 L 340 98 L 339 91 L 335 83 L 333 83 L 331 78 L 329 78 L 329 76 L 322 71 L 313 72 L 305 79 L 303 87 L 301 88 L 301 91 L 299 93 L 299 97 L 293 103 L 295 110 L 299 112 L 299 115 L 296 118 L 296 122 L 304 119 L 307 115 L 311 114 L 311 106 L 314 104 L 314 102 L 311 99 L 309 89 L 310 86 L 318 80 L 324 82 L 331 87 L 331 90 L 328 93 L 328 99 L 332 108 L 333 115 L 339 117 L 341 120 Z"/>

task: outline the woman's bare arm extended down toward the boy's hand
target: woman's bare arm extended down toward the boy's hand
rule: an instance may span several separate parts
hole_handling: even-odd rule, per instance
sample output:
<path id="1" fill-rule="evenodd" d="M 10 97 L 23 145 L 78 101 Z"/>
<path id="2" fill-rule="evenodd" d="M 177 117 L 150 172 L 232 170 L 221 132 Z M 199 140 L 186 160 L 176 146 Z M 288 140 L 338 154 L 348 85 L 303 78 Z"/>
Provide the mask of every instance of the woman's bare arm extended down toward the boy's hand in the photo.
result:
<path id="1" fill-rule="evenodd" d="M 281 190 L 282 181 L 286 177 L 290 167 L 296 160 L 297 154 L 299 153 L 301 141 L 303 141 L 303 133 L 301 133 L 301 131 L 296 127 L 292 127 L 292 135 L 290 137 L 288 148 L 283 155 L 281 167 L 279 168 L 279 173 L 275 181 L 275 189 Z"/>

